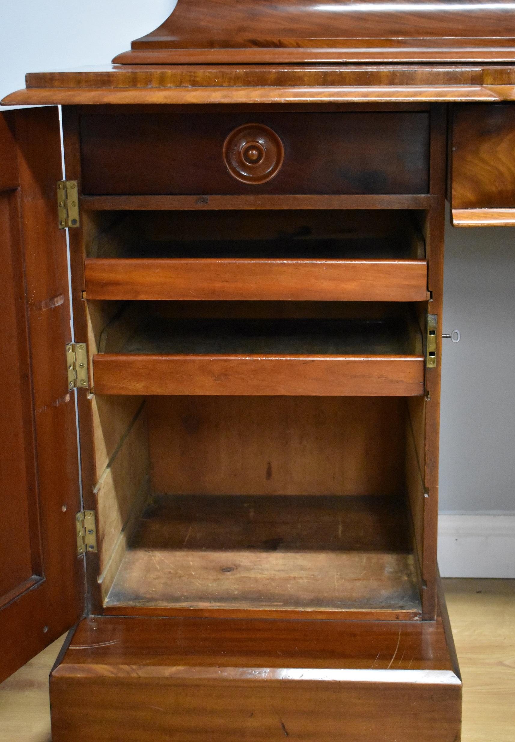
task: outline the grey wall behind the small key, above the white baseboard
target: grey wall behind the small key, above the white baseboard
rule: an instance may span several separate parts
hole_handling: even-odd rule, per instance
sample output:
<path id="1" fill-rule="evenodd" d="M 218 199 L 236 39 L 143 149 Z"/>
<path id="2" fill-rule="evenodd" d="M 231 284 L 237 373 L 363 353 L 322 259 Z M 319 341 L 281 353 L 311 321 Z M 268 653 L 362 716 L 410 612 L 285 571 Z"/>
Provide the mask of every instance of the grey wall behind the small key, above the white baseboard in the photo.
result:
<path id="1" fill-rule="evenodd" d="M 440 509 L 515 511 L 515 228 L 445 234 Z"/>

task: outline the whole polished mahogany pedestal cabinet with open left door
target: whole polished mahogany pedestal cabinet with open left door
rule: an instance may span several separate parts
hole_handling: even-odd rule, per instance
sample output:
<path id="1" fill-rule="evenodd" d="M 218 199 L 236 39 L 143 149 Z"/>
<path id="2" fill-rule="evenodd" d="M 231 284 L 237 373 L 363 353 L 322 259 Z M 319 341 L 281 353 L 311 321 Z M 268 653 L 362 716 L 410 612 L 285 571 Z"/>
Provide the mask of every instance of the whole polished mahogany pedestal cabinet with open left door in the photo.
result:
<path id="1" fill-rule="evenodd" d="M 179 0 L 4 100 L 0 669 L 76 625 L 54 742 L 459 740 L 445 198 L 515 223 L 507 17 Z"/>

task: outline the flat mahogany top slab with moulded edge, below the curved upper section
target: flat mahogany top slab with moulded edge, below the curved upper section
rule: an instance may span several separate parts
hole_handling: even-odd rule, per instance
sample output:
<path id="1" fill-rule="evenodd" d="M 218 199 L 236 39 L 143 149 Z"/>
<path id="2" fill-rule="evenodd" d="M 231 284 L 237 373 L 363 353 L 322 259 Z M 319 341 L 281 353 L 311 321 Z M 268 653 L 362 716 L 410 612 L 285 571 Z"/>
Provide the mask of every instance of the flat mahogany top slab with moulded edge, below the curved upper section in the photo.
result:
<path id="1" fill-rule="evenodd" d="M 514 84 L 506 65 L 421 66 L 409 59 L 398 65 L 113 65 L 29 73 L 27 88 L 2 103 L 495 102 L 513 99 Z"/>

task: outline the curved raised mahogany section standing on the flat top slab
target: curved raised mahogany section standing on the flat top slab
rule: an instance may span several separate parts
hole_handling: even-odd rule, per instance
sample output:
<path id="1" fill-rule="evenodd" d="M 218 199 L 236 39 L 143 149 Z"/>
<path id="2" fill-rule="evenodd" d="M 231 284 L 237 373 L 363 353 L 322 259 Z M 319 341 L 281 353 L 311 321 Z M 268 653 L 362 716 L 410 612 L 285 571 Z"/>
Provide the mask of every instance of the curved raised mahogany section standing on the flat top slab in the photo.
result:
<path id="1" fill-rule="evenodd" d="M 513 4 L 178 0 L 124 64 L 513 59 Z M 439 10 L 440 9 L 440 10 Z M 490 37 L 495 37 L 495 40 Z"/>

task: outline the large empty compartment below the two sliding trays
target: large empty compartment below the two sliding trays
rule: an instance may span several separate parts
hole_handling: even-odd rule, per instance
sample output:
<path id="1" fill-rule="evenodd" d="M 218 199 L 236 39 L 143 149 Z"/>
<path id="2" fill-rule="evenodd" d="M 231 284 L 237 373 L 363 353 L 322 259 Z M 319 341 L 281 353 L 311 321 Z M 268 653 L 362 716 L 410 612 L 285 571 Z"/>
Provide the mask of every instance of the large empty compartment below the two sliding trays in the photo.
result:
<path id="1" fill-rule="evenodd" d="M 106 608 L 419 612 L 405 398 L 98 397 L 96 416 Z"/>

